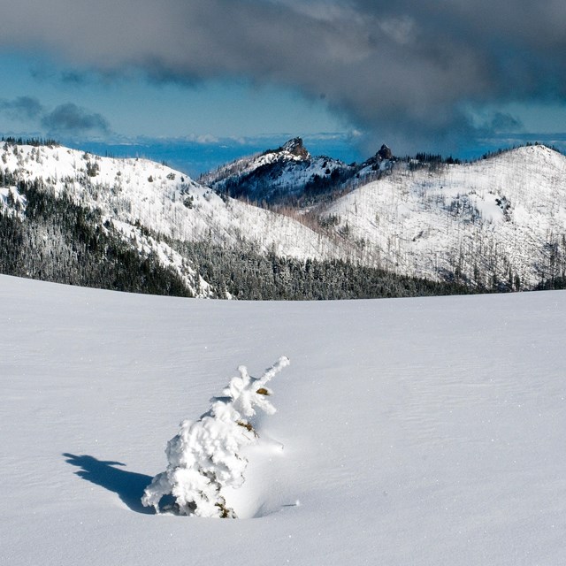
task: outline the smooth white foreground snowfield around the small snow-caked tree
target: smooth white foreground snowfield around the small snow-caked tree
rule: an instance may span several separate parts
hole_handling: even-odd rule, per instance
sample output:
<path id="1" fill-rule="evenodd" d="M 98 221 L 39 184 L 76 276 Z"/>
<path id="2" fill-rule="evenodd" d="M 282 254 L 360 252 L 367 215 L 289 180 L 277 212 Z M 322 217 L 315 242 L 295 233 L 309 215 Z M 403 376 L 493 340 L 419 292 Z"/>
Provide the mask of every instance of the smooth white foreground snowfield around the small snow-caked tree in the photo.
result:
<path id="1" fill-rule="evenodd" d="M 0 277 L 2 562 L 564 562 L 566 293 L 207 302 Z M 153 515 L 164 442 L 285 354 L 233 507 Z M 301 505 L 297 505 L 301 501 Z"/>

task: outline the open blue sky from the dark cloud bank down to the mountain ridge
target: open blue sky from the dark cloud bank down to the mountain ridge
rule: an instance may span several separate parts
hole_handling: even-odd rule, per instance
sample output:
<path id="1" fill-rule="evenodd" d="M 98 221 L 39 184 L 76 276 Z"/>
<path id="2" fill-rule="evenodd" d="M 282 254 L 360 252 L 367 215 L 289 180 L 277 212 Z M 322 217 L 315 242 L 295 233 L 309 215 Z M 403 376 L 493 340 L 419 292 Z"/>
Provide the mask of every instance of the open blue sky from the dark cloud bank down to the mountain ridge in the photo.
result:
<path id="1" fill-rule="evenodd" d="M 245 79 L 158 81 L 139 70 L 106 75 L 14 51 L 0 53 L 0 81 L 0 134 L 6 136 L 52 137 L 117 157 L 142 155 L 193 175 L 296 135 L 317 153 L 348 162 L 364 157 L 355 126 L 294 88 Z M 30 116 L 25 102 L 42 110 Z M 69 104 L 99 120 L 90 126 L 88 120 L 87 126 L 45 123 L 44 114 Z"/>

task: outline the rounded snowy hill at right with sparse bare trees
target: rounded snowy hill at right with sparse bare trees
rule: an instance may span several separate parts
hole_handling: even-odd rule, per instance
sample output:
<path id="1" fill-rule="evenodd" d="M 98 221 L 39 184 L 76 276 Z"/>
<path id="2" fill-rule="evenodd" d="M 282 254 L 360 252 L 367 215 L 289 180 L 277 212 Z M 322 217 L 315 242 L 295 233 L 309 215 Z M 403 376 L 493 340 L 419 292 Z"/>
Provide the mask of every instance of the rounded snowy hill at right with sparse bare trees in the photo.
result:
<path id="1" fill-rule="evenodd" d="M 402 273 L 515 288 L 566 270 L 566 157 L 544 146 L 434 171 L 399 164 L 320 213 L 363 242 L 364 261 Z"/>

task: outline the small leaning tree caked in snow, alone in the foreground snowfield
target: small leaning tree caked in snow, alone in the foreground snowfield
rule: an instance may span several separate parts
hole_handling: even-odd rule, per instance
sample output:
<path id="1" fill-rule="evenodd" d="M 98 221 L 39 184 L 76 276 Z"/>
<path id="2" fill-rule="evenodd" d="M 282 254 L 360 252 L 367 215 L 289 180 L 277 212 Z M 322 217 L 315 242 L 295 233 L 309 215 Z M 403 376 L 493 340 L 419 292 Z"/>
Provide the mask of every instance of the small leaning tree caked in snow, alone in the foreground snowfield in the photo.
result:
<path id="1" fill-rule="evenodd" d="M 241 447 L 257 441 L 248 419 L 256 414 L 256 407 L 270 415 L 275 412 L 266 384 L 288 364 L 286 356 L 280 357 L 259 379 L 241 365 L 240 375 L 230 380 L 224 396 L 216 397 L 203 417 L 183 421 L 165 449 L 167 470 L 146 487 L 143 505 L 158 513 L 162 498 L 172 495 L 174 503 L 164 509 L 179 515 L 236 518 L 222 489 L 243 484 L 248 461 L 240 455 Z"/>

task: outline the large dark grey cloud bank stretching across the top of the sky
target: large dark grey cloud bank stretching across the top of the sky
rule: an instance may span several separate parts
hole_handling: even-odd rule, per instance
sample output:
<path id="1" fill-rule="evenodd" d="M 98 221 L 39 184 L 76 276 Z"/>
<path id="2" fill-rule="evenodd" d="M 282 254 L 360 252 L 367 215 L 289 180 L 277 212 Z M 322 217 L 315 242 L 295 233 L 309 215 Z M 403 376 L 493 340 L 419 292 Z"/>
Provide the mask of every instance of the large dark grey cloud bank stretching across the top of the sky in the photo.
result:
<path id="1" fill-rule="evenodd" d="M 375 142 L 455 149 L 498 126 L 470 109 L 565 100 L 564 29 L 563 0 L 19 0 L 0 45 L 104 72 L 137 65 L 153 80 L 291 86 Z"/>

